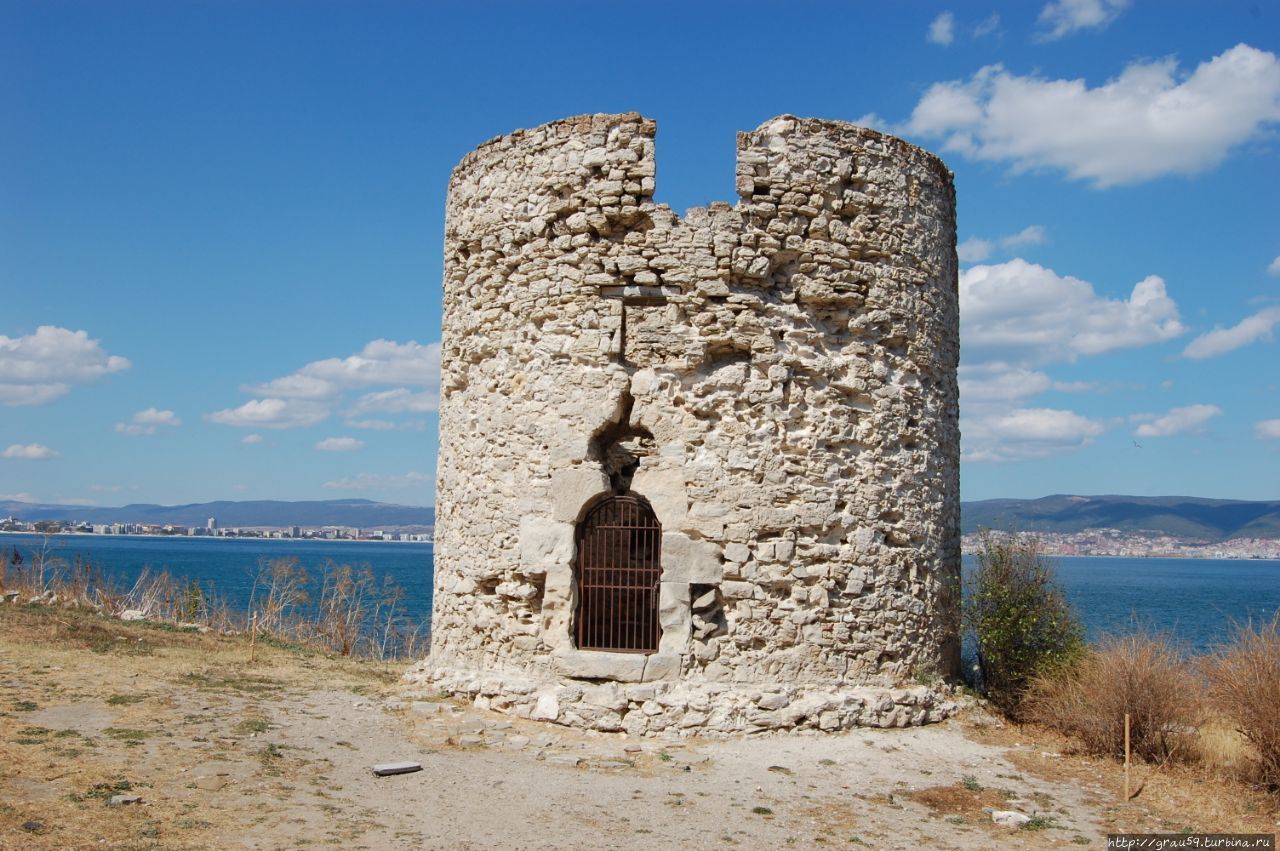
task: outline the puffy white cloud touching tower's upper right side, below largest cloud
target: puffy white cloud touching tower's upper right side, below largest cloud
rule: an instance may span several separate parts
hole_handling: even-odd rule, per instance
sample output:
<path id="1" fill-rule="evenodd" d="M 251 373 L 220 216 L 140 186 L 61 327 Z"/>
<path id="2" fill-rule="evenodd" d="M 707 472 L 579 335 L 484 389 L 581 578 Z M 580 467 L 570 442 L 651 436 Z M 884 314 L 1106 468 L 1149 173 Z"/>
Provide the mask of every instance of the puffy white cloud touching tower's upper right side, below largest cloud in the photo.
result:
<path id="1" fill-rule="evenodd" d="M 1070 275 L 1015 258 L 960 275 L 965 360 L 1027 366 L 1074 361 L 1172 339 L 1185 329 L 1165 282 L 1151 275 L 1124 301 Z"/>

